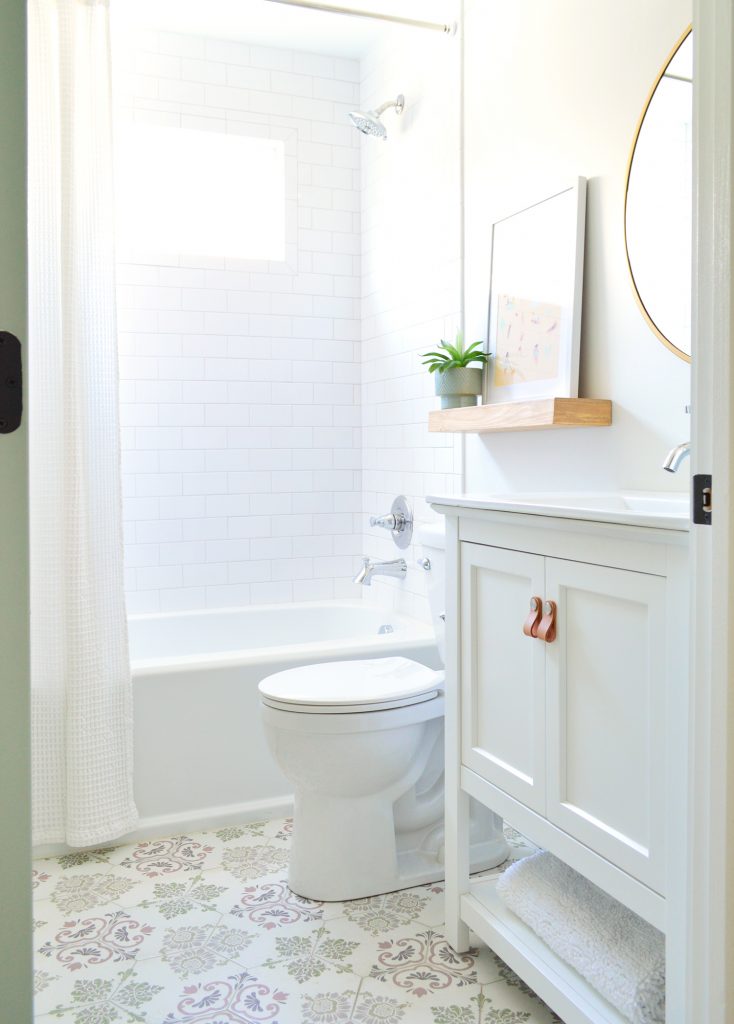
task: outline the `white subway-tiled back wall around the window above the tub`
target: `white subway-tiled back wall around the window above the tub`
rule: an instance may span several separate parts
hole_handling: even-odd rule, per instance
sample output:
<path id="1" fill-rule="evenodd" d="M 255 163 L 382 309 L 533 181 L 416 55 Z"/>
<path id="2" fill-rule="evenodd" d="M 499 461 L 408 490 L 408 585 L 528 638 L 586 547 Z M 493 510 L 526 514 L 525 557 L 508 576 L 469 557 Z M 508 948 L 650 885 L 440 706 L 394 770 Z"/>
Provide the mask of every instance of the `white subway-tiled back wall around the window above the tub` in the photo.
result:
<path id="1" fill-rule="evenodd" d="M 121 119 L 280 139 L 284 262 L 122 253 L 131 612 L 354 596 L 358 63 L 146 33 Z"/>

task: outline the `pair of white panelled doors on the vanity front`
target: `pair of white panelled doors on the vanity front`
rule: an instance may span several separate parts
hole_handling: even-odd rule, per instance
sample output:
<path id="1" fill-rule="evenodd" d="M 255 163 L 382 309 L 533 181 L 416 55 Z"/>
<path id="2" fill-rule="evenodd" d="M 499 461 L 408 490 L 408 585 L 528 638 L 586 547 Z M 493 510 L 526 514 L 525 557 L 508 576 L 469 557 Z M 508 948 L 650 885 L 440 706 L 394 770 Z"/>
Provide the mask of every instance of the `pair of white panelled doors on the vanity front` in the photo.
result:
<path id="1" fill-rule="evenodd" d="M 462 763 L 662 893 L 664 578 L 463 543 L 461 580 Z"/>

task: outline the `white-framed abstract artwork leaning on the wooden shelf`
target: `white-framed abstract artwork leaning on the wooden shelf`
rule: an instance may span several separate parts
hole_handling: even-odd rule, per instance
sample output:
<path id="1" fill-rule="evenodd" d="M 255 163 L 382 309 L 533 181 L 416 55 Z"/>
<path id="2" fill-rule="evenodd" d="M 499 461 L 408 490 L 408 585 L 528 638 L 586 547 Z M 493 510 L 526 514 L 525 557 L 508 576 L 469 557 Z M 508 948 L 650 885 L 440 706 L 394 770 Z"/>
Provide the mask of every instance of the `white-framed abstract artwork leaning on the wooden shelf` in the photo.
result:
<path id="1" fill-rule="evenodd" d="M 586 178 L 492 224 L 486 402 L 578 396 Z"/>

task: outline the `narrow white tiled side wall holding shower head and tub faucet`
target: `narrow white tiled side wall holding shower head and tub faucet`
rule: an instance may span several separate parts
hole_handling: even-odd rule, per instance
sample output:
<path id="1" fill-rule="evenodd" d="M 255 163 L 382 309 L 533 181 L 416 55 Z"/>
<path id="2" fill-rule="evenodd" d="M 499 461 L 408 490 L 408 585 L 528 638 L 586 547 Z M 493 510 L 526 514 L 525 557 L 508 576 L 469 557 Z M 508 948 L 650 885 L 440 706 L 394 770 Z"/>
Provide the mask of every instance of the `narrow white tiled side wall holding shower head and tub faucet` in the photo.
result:
<path id="1" fill-rule="evenodd" d="M 429 434 L 437 399 L 420 354 L 460 324 L 460 44 L 416 32 L 389 37 L 361 62 L 362 109 L 402 92 L 405 111 L 388 111 L 388 140 L 362 141 L 361 409 L 364 554 L 405 555 L 404 583 L 376 578 L 364 597 L 408 614 L 428 615 L 418 549 L 398 551 L 369 514 L 390 510 L 405 494 L 417 520 L 435 514 L 431 492 L 461 481 L 460 442 Z"/>

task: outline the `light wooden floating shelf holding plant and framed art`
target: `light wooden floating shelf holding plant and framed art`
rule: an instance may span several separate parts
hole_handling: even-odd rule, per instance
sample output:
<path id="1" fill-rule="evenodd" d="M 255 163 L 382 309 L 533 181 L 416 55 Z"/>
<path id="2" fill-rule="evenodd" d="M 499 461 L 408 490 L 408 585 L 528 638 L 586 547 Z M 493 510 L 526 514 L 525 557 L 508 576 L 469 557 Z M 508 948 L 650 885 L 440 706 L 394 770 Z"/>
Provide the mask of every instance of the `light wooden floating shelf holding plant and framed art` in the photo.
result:
<path id="1" fill-rule="evenodd" d="M 608 427 L 608 398 L 533 398 L 496 406 L 438 409 L 428 414 L 433 433 L 489 434 L 509 430 L 552 430 L 559 427 Z"/>

